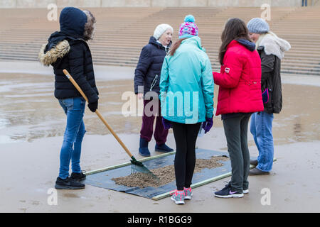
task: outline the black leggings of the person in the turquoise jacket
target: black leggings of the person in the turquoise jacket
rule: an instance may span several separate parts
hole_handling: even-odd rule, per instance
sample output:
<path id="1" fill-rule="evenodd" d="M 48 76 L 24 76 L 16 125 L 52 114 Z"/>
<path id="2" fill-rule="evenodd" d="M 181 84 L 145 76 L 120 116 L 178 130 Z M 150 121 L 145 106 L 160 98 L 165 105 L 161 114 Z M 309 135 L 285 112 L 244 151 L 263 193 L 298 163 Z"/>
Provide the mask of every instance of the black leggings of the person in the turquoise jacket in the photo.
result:
<path id="1" fill-rule="evenodd" d="M 190 187 L 194 167 L 196 166 L 196 140 L 201 123 L 184 124 L 171 122 L 176 140 L 176 157 L 174 157 L 174 172 L 176 187 Z"/>

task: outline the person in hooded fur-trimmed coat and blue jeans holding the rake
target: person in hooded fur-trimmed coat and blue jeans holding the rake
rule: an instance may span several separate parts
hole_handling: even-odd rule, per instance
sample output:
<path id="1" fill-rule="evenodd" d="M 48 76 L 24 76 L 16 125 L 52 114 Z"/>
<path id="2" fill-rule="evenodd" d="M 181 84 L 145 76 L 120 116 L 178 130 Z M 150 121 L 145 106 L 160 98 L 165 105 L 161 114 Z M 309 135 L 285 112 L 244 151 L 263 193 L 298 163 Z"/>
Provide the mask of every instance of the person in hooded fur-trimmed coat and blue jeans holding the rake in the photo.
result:
<path id="1" fill-rule="evenodd" d="M 55 74 L 55 98 L 67 115 L 67 126 L 60 150 L 60 171 L 55 182 L 56 189 L 82 189 L 80 180 L 85 175 L 80 168 L 82 138 L 85 135 L 83 115 L 85 99 L 63 73 L 68 70 L 87 96 L 88 107 L 95 112 L 98 105 L 98 91 L 95 86 L 92 57 L 87 40 L 92 39 L 95 17 L 90 11 L 67 7 L 60 13 L 60 32 L 50 35 L 48 44 L 43 45 L 39 60 L 43 65 L 53 66 Z M 72 174 L 69 165 L 72 161 Z"/>

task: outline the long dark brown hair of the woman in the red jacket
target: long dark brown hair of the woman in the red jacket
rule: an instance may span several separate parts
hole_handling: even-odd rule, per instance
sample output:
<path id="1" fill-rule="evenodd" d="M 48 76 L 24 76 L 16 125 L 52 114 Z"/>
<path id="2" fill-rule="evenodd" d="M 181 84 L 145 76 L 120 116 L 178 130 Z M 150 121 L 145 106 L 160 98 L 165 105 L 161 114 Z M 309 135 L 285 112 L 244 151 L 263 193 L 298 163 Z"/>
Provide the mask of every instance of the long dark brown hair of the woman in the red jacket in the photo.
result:
<path id="1" fill-rule="evenodd" d="M 239 38 L 252 42 L 245 22 L 239 18 L 230 18 L 225 24 L 225 29 L 221 34 L 221 40 L 223 42 L 219 50 L 219 62 L 221 65 L 223 65 L 223 57 L 225 57 L 225 52 L 227 52 L 229 43 L 231 43 L 232 40 L 237 40 Z"/>

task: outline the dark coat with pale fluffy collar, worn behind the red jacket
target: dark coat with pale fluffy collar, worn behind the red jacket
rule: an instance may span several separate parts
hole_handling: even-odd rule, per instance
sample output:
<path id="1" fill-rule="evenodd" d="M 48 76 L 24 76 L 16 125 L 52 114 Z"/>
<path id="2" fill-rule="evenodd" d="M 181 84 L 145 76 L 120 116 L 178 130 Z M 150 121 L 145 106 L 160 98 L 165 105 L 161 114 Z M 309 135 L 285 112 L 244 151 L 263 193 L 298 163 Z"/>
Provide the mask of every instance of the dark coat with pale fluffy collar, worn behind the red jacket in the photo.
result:
<path id="1" fill-rule="evenodd" d="M 257 48 L 261 58 L 261 90 L 269 90 L 269 101 L 265 104 L 267 114 L 279 114 L 282 110 L 281 60 L 276 55 L 267 55 L 263 47 Z"/>

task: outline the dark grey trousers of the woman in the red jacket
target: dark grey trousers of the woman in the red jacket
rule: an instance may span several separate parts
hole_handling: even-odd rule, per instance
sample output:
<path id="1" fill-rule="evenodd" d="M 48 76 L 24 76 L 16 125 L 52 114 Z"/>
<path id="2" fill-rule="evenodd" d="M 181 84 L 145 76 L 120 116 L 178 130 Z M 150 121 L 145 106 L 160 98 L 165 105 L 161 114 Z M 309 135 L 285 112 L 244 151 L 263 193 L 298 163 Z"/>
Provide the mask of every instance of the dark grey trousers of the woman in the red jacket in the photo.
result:
<path id="1" fill-rule="evenodd" d="M 242 114 L 223 120 L 232 167 L 232 177 L 229 184 L 232 189 L 240 193 L 249 187 L 247 175 L 250 170 L 250 153 L 247 148 L 247 126 L 250 115 Z"/>

